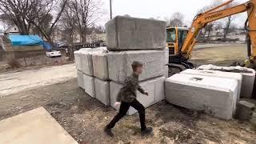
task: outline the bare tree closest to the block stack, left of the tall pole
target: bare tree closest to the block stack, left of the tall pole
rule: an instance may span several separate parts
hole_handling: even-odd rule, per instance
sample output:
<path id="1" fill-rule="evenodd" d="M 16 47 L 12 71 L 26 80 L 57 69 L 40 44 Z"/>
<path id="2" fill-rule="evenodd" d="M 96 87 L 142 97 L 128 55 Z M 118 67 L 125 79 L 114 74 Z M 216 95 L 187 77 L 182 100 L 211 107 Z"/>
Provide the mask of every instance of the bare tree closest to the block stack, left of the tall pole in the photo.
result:
<path id="1" fill-rule="evenodd" d="M 102 17 L 102 1 L 100 0 L 74 0 L 72 7 L 76 15 L 78 32 L 82 42 L 86 43 L 88 29 Z"/>

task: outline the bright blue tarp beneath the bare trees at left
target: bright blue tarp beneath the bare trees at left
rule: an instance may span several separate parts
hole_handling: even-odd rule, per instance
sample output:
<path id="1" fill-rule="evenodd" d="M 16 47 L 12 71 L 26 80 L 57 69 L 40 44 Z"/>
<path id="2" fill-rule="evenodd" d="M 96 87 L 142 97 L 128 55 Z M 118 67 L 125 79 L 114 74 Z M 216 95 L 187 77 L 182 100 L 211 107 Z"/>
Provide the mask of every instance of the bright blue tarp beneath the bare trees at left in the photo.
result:
<path id="1" fill-rule="evenodd" d="M 13 46 L 42 45 L 43 41 L 38 35 L 9 35 Z"/>

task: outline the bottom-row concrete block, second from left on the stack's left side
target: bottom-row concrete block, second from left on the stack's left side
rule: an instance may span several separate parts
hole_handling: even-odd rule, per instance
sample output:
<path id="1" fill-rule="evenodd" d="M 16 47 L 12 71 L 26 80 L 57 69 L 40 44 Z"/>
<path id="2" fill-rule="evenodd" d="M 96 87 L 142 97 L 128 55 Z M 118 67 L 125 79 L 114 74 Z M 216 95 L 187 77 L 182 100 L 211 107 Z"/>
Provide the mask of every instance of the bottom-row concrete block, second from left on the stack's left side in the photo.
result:
<path id="1" fill-rule="evenodd" d="M 83 83 L 86 93 L 89 94 L 92 98 L 95 98 L 94 77 L 83 74 Z"/>

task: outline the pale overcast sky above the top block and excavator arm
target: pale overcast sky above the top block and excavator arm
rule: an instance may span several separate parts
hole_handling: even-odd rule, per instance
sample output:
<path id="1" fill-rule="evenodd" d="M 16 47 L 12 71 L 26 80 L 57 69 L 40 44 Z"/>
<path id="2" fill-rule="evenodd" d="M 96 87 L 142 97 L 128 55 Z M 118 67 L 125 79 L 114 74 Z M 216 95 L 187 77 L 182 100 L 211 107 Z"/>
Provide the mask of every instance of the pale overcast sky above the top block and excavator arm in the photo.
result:
<path id="1" fill-rule="evenodd" d="M 227 0 L 226 0 L 227 1 Z M 224 0 L 224 2 L 226 2 Z M 243 3 L 248 0 L 235 0 L 234 2 Z M 110 14 L 110 0 L 104 0 L 104 7 Z M 194 16 L 203 6 L 210 5 L 210 0 L 112 0 L 113 16 L 129 14 L 131 17 L 138 18 L 160 18 L 170 17 L 179 11 L 185 15 L 186 23 L 192 22 Z M 102 19 L 106 22 L 109 17 Z M 235 23 L 243 26 L 246 14 L 238 14 Z"/>

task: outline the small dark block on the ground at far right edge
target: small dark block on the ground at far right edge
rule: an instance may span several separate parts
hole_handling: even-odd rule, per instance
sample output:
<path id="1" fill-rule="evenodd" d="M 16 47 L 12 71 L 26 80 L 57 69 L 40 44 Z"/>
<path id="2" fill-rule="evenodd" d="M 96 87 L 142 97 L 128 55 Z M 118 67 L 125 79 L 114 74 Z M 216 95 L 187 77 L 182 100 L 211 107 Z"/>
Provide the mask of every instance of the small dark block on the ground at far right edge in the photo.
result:
<path id="1" fill-rule="evenodd" d="M 238 118 L 242 121 L 250 121 L 252 118 L 253 112 L 255 109 L 255 105 L 250 102 L 240 101 L 237 105 L 237 110 L 235 113 L 235 118 Z"/>

